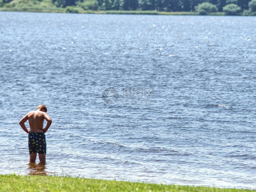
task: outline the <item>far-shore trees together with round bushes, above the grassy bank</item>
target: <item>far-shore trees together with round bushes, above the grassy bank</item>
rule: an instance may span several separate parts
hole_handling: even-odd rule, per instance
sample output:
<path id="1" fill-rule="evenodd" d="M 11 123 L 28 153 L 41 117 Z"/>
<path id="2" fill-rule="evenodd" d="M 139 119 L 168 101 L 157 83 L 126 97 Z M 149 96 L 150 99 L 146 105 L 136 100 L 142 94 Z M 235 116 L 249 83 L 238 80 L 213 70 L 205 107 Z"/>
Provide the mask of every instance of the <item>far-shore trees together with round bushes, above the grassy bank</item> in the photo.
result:
<path id="1" fill-rule="evenodd" d="M 2 1 L 2 2 L 1 2 Z M 51 6 L 80 10 L 125 10 L 125 11 L 166 11 L 225 12 L 226 15 L 256 15 L 256 0 L 0 0 L 0 7 L 19 6 L 18 3 L 47 2 Z M 33 4 L 33 2 L 32 2 Z M 76 11 L 76 10 L 75 10 Z M 72 12 L 72 10 L 71 10 Z"/>

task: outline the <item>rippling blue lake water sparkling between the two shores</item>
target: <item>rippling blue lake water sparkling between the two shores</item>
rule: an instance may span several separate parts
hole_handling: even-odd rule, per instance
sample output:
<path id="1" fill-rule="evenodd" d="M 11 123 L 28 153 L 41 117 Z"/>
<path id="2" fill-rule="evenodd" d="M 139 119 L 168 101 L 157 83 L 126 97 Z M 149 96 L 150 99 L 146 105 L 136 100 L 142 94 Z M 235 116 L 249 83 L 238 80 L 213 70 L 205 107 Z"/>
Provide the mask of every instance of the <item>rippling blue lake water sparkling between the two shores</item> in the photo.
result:
<path id="1" fill-rule="evenodd" d="M 0 12 L 0 174 L 255 188 L 255 24 Z M 40 104 L 44 166 L 18 124 Z"/>

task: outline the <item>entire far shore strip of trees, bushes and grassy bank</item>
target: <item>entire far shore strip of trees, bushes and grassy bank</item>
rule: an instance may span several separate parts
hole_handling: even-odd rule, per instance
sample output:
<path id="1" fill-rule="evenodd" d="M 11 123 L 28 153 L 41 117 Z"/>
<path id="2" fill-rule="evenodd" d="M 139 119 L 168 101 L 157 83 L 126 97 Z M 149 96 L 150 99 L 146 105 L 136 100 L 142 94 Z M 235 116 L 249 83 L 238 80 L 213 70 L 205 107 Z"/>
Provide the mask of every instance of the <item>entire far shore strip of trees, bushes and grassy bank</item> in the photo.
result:
<path id="1" fill-rule="evenodd" d="M 256 0 L 0 0 L 1 11 L 256 15 Z"/>

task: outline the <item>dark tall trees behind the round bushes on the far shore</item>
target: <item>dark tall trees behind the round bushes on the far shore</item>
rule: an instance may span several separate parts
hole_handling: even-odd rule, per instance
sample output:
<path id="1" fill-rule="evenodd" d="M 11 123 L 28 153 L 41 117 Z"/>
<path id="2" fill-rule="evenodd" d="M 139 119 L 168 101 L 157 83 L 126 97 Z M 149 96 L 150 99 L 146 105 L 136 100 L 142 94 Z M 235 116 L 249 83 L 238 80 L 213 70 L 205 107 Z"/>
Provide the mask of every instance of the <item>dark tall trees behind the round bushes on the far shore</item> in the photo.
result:
<path id="1" fill-rule="evenodd" d="M 196 11 L 198 4 L 216 5 L 219 12 L 228 4 L 247 10 L 250 0 L 52 0 L 56 7 L 78 5 L 85 10 L 157 10 L 168 12 Z"/>

